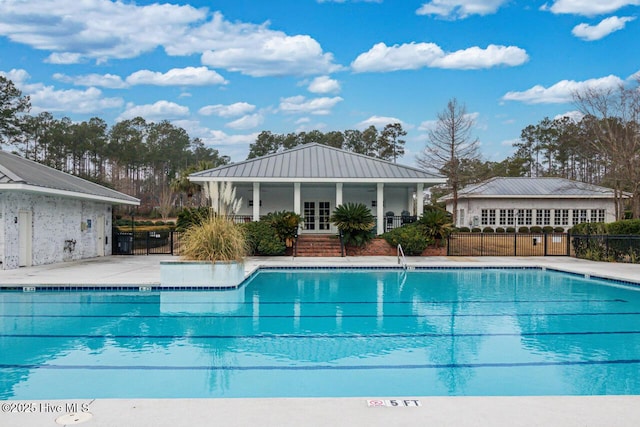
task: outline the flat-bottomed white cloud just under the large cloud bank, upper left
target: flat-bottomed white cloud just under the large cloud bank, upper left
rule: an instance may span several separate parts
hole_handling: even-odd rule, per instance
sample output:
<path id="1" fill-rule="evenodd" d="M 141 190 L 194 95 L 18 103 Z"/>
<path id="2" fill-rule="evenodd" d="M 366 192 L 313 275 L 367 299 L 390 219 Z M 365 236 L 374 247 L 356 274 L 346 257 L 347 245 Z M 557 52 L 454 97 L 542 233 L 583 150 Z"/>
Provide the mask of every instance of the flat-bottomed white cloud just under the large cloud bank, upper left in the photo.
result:
<path id="1" fill-rule="evenodd" d="M 228 83 L 224 77 L 207 67 L 173 68 L 166 73 L 140 70 L 127 77 L 130 85 L 206 86 Z"/>

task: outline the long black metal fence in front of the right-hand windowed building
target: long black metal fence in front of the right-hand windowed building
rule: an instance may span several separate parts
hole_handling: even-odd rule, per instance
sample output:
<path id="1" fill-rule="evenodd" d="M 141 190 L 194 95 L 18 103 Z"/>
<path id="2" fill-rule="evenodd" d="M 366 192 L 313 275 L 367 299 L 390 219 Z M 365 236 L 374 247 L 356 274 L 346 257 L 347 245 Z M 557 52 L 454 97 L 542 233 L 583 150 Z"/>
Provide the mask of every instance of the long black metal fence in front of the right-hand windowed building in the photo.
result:
<path id="1" fill-rule="evenodd" d="M 569 256 L 566 233 L 452 233 L 447 256 Z"/>

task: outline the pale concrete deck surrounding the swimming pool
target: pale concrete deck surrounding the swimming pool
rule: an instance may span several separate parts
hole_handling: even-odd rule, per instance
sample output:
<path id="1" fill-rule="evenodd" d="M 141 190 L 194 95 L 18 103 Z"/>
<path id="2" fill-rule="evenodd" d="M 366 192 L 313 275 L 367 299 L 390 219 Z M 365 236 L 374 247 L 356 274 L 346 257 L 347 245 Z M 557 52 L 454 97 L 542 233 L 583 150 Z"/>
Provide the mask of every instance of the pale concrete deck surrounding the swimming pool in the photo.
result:
<path id="1" fill-rule="evenodd" d="M 0 271 L 1 286 L 154 285 L 167 256 L 118 256 Z M 567 257 L 407 257 L 409 266 L 536 266 L 640 284 L 640 265 Z M 397 266 L 396 257 L 248 258 L 259 266 Z M 638 372 L 640 375 L 640 372 Z M 620 426 L 640 425 L 640 396 L 421 397 L 420 407 L 368 407 L 367 399 L 74 399 L 3 401 L 0 426 L 59 426 L 67 405 L 86 404 L 92 417 L 82 426 Z M 398 396 L 387 396 L 395 399 Z M 403 397 L 403 399 L 406 399 Z M 32 412 L 8 412 L 28 403 Z M 24 407 L 23 407 L 24 409 Z M 83 414 L 80 413 L 80 416 Z M 68 418 L 66 425 L 72 425 Z"/>

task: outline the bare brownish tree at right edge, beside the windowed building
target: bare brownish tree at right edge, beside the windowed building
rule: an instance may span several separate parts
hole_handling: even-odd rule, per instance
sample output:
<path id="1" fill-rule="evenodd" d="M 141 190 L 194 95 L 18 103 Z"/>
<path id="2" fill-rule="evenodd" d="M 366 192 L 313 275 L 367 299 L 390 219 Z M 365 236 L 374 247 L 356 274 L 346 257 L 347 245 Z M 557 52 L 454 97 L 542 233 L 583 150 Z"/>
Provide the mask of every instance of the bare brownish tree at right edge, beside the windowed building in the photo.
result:
<path id="1" fill-rule="evenodd" d="M 638 82 L 640 83 L 640 79 Z M 616 219 L 623 218 L 623 191 L 633 196 L 633 217 L 640 218 L 640 88 L 589 88 L 573 95 L 586 116 L 590 144 L 606 156 L 608 175 L 616 192 Z"/>

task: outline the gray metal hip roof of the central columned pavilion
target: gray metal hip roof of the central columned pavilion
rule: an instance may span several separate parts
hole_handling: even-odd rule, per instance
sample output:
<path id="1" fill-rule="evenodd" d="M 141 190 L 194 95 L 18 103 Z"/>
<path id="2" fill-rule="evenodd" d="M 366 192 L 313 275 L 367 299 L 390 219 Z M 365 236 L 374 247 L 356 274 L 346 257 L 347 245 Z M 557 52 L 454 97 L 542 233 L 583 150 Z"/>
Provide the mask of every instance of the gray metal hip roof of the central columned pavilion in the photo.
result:
<path id="1" fill-rule="evenodd" d="M 420 169 L 352 153 L 326 145 L 300 145 L 231 165 L 189 175 L 193 181 L 265 180 L 291 181 L 381 180 L 392 182 L 444 183 L 444 178 Z"/>

